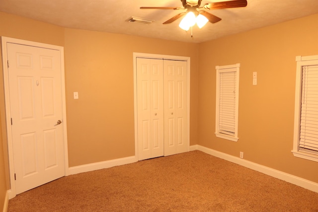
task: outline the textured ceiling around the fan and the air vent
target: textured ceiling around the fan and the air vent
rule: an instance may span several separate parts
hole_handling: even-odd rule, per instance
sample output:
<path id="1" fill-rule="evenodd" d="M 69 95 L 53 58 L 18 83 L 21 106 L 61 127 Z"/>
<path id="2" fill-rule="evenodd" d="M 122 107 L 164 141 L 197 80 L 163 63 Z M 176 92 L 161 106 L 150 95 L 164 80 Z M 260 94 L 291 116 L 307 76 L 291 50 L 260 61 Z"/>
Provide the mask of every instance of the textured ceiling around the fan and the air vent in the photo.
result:
<path id="1" fill-rule="evenodd" d="M 201 5 L 220 0 L 202 0 Z M 63 27 L 166 40 L 201 43 L 318 13 L 318 0 L 247 0 L 246 7 L 209 10 L 222 18 L 202 29 L 185 32 L 181 20 L 162 24 L 181 10 L 140 9 L 141 6 L 182 7 L 180 0 L 0 0 L 0 11 Z M 155 20 L 150 25 L 129 23 L 131 16 Z M 318 24 L 318 23 L 317 23 Z"/>

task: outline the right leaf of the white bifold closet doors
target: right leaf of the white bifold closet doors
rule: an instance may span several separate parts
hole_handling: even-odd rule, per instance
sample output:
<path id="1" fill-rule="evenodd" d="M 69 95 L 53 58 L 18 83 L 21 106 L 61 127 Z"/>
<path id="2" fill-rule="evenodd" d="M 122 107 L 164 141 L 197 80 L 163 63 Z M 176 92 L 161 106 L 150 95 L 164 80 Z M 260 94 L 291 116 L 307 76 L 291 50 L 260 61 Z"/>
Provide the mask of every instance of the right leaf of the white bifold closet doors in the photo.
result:
<path id="1" fill-rule="evenodd" d="M 187 62 L 164 60 L 164 155 L 188 150 Z"/>

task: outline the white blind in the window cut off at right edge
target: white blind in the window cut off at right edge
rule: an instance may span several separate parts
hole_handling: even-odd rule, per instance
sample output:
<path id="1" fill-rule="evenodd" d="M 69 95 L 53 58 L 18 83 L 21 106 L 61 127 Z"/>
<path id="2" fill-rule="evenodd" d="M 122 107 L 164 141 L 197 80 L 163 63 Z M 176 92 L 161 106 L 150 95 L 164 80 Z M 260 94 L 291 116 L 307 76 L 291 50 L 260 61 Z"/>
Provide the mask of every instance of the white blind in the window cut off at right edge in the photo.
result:
<path id="1" fill-rule="evenodd" d="M 299 150 L 318 154 L 318 65 L 303 66 Z"/>

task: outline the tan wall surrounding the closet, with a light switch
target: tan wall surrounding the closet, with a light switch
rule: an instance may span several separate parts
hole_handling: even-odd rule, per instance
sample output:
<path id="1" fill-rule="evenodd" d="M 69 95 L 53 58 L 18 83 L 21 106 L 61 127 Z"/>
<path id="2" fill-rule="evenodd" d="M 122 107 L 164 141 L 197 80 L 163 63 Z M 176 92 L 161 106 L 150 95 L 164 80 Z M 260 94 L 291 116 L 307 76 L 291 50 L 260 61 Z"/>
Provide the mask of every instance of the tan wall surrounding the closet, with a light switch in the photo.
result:
<path id="1" fill-rule="evenodd" d="M 71 167 L 135 155 L 133 52 L 191 58 L 190 144 L 197 143 L 198 45 L 66 29 Z"/>

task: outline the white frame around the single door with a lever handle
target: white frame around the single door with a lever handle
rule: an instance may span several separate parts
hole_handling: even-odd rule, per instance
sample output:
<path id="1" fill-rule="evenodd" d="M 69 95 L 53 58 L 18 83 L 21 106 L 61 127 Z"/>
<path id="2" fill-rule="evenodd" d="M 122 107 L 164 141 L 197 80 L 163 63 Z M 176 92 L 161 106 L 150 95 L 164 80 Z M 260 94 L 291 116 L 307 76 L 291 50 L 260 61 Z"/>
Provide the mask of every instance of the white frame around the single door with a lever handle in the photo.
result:
<path id="1" fill-rule="evenodd" d="M 62 83 L 62 113 L 63 113 L 63 139 L 64 139 L 64 164 L 65 176 L 69 171 L 68 159 L 68 142 L 67 142 L 67 126 L 66 126 L 66 97 L 65 97 L 65 74 L 64 74 L 64 47 L 55 46 L 50 44 L 37 43 L 32 41 L 20 40 L 15 38 L 1 37 L 2 49 L 2 69 L 3 69 L 3 85 L 4 85 L 4 101 L 5 101 L 5 121 L 6 121 L 6 135 L 8 146 L 8 159 L 9 159 L 9 174 L 10 174 L 10 190 L 8 191 L 9 199 L 16 196 L 15 181 L 14 181 L 14 163 L 13 163 L 13 142 L 12 142 L 12 128 L 11 128 L 11 112 L 10 112 L 10 98 L 9 98 L 9 74 L 7 63 L 7 43 L 14 43 L 20 45 L 34 46 L 46 49 L 58 50 L 61 53 L 61 83 Z"/>

